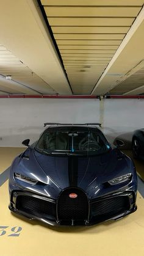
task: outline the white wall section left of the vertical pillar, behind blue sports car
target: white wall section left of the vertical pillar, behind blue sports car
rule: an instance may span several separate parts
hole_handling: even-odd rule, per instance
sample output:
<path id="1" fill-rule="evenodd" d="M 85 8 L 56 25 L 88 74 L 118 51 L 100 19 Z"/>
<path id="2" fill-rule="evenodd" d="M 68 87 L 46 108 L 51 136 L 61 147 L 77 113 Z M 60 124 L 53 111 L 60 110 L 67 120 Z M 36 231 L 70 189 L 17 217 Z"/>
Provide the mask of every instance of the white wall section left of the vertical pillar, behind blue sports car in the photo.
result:
<path id="1" fill-rule="evenodd" d="M 45 122 L 99 122 L 98 100 L 0 99 L 0 147 L 20 147 L 34 142 Z"/>

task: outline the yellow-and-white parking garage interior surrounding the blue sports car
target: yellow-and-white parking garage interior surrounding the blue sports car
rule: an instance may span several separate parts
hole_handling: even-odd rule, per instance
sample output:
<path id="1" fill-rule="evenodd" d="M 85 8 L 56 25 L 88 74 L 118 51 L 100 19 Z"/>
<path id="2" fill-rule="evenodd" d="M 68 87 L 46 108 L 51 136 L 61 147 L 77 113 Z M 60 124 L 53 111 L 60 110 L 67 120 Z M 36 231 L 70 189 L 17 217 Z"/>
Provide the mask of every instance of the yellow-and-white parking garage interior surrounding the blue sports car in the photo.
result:
<path id="1" fill-rule="evenodd" d="M 143 0 L 1 0 L 0 245 L 5 256 L 143 255 Z M 54 227 L 9 211 L 13 159 L 49 123 L 101 123 L 135 164 L 137 211 L 90 227 Z"/>

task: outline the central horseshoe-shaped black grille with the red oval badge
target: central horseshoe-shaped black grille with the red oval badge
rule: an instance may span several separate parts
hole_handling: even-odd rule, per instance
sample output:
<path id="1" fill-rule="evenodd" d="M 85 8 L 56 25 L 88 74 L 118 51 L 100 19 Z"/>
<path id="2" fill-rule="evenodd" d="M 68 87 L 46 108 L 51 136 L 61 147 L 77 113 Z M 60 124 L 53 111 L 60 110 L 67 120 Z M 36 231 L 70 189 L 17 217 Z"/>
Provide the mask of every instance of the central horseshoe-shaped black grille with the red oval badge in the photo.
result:
<path id="1" fill-rule="evenodd" d="M 70 194 L 77 194 L 76 198 L 70 198 Z M 86 220 L 88 218 L 88 200 L 81 189 L 65 189 L 58 200 L 59 220 Z"/>

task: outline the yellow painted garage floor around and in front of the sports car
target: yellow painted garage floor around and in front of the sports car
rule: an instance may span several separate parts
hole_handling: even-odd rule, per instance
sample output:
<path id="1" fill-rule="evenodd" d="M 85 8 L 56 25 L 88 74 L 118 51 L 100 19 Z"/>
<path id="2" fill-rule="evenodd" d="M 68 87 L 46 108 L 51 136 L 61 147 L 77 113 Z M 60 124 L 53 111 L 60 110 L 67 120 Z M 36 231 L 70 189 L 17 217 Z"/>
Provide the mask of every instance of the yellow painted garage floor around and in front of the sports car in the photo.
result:
<path id="1" fill-rule="evenodd" d="M 21 150 L 23 149 L 5 149 L 5 156 L 3 152 L 4 158 L 0 159 L 4 168 L 9 166 L 12 156 L 17 155 Z M 135 213 L 119 221 L 107 221 L 92 227 L 56 228 L 41 222 L 27 221 L 10 213 L 8 181 L 0 186 L 0 199 L 1 255 L 132 256 L 144 254 L 144 199 L 139 193 L 138 210 Z"/>

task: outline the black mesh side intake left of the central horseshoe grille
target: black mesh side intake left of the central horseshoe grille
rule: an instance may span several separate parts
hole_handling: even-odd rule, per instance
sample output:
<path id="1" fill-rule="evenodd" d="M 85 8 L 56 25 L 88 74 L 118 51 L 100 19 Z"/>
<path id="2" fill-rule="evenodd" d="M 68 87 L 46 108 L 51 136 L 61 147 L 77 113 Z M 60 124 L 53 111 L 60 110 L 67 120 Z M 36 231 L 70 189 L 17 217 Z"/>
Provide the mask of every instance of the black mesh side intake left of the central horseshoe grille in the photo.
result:
<path id="1" fill-rule="evenodd" d="M 16 208 L 27 213 L 45 216 L 46 218 L 56 218 L 56 203 L 38 199 L 32 196 L 18 196 Z"/>

